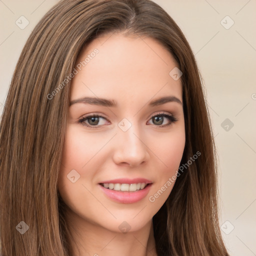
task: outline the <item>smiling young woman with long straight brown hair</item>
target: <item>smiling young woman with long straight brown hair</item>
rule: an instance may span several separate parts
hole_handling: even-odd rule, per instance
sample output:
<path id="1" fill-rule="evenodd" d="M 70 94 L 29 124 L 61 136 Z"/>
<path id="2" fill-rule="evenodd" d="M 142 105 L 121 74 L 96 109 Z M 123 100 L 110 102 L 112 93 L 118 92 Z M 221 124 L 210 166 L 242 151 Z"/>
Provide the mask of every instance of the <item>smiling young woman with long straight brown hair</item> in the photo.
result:
<path id="1" fill-rule="evenodd" d="M 149 0 L 62 0 L 0 131 L 2 255 L 228 255 L 193 53 Z"/>

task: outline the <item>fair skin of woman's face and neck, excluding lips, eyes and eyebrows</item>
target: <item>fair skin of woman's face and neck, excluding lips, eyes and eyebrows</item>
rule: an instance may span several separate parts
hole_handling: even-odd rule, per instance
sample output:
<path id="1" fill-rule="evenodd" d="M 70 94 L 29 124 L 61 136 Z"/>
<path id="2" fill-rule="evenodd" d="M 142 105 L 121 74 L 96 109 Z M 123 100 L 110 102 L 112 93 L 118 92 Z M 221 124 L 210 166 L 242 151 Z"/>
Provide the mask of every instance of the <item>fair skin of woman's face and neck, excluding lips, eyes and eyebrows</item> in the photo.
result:
<path id="1" fill-rule="evenodd" d="M 67 221 L 77 244 L 76 255 L 156 255 L 152 217 L 167 199 L 174 185 L 155 199 L 149 196 L 176 174 L 185 144 L 182 103 L 149 106 L 149 101 L 172 95 L 182 102 L 181 80 L 169 75 L 177 66 L 172 55 L 148 37 L 120 33 L 94 39 L 84 48 L 77 63 L 95 48 L 98 53 L 73 77 L 70 101 L 84 96 L 113 99 L 117 107 L 88 103 L 69 106 L 62 164 L 58 179 L 60 196 L 68 205 Z M 153 122 L 152 116 L 169 113 L 177 121 Z M 93 128 L 87 114 L 100 114 Z M 161 115 L 160 115 L 161 116 Z M 118 123 L 126 118 L 125 132 Z M 94 126 L 95 127 L 95 126 Z M 68 173 L 80 177 L 73 183 Z M 135 203 L 109 199 L 98 183 L 115 178 L 143 177 L 152 181 L 149 193 Z M 126 221 L 130 230 L 118 226 Z M 80 252 L 80 254 L 79 254 Z"/>

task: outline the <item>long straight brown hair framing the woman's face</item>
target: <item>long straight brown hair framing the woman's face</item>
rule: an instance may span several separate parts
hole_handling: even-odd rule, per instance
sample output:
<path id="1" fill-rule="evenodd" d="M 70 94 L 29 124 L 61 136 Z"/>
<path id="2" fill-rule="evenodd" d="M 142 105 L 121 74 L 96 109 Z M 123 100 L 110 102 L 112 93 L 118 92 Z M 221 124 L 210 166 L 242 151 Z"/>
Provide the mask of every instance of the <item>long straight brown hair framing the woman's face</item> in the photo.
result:
<path id="1" fill-rule="evenodd" d="M 65 79 L 72 73 L 84 45 L 103 33 L 116 31 L 154 38 L 173 55 L 183 73 L 186 142 L 180 165 L 195 152 L 201 152 L 177 177 L 169 197 L 153 217 L 157 254 L 228 255 L 218 223 L 216 156 L 210 119 L 201 76 L 183 33 L 150 0 L 61 0 L 30 34 L 3 109 L 3 256 L 74 255 L 65 204 L 57 190 L 69 105 L 70 79 Z"/>

